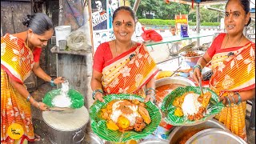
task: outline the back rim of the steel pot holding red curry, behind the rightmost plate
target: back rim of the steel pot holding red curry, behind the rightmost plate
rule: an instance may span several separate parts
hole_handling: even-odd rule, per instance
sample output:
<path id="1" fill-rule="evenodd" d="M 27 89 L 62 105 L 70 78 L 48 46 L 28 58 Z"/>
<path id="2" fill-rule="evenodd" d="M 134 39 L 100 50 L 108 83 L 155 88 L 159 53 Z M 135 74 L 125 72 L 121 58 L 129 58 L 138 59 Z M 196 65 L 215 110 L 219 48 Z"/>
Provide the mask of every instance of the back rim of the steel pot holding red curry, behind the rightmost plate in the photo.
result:
<path id="1" fill-rule="evenodd" d="M 183 77 L 168 77 L 161 78 L 155 81 L 155 87 L 167 85 L 167 84 L 180 84 L 184 86 L 195 86 L 194 82 L 190 81 L 187 78 Z"/>

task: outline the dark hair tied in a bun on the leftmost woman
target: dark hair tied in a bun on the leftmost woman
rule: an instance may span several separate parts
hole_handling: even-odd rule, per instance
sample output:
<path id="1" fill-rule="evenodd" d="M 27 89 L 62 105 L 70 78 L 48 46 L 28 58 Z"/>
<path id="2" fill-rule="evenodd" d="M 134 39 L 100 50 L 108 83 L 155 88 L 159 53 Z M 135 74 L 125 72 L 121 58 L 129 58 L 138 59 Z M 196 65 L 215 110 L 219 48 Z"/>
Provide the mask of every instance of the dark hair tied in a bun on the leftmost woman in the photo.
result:
<path id="1" fill-rule="evenodd" d="M 53 22 L 46 14 L 36 13 L 33 15 L 26 15 L 25 18 L 22 19 L 22 23 L 24 26 L 33 30 L 34 34 L 44 34 L 46 31 L 54 28 Z"/>

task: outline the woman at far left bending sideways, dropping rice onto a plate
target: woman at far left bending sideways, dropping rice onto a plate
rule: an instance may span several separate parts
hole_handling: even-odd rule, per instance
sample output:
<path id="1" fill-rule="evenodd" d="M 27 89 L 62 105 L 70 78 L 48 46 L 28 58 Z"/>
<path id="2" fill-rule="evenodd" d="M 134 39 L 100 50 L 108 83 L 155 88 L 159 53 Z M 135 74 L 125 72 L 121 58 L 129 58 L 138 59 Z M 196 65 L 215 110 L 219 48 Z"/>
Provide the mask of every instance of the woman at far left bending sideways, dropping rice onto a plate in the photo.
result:
<path id="1" fill-rule="evenodd" d="M 31 70 L 51 84 L 62 82 L 51 79 L 39 66 L 42 47 L 54 33 L 46 14 L 27 15 L 23 24 L 29 29 L 1 37 L 1 143 L 38 141 L 34 134 L 30 105 L 46 110 L 46 104 L 37 102 L 26 90 L 24 81 Z"/>

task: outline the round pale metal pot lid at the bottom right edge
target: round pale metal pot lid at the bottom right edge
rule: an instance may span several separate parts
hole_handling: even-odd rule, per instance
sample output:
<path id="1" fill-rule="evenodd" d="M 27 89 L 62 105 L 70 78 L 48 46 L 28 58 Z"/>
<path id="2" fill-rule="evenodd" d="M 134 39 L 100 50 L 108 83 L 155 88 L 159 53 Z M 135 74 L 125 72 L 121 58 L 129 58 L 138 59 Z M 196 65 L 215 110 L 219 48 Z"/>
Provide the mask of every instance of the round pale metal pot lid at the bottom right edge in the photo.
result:
<path id="1" fill-rule="evenodd" d="M 194 134 L 191 138 L 186 141 L 186 144 L 197 144 L 197 143 L 207 143 L 207 144 L 216 144 L 216 143 L 232 143 L 232 144 L 246 144 L 246 142 L 238 137 L 235 134 L 232 134 L 229 131 L 210 128 L 202 130 L 197 134 Z"/>

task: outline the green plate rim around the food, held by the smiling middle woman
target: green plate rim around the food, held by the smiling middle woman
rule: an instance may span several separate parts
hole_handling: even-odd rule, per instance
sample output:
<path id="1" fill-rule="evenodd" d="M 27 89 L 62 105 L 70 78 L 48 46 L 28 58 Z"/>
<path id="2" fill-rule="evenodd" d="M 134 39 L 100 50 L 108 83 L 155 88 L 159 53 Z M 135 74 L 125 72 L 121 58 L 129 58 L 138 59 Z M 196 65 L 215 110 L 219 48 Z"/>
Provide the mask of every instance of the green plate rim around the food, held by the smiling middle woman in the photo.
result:
<path id="1" fill-rule="evenodd" d="M 146 110 L 149 111 L 151 122 L 147 125 L 141 132 L 136 132 L 134 130 L 120 132 L 119 130 L 109 130 L 106 128 L 106 120 L 98 116 L 98 112 L 102 107 L 114 99 L 138 99 L 140 102 L 144 102 L 144 98 L 135 94 L 110 94 L 104 97 L 104 102 L 96 101 L 92 106 L 90 106 L 90 123 L 94 134 L 97 134 L 100 138 L 105 139 L 110 142 L 126 142 L 130 139 L 138 140 L 145 138 L 147 135 L 152 134 L 154 130 L 157 129 L 160 121 L 161 114 L 157 106 L 152 102 L 146 102 Z"/>

